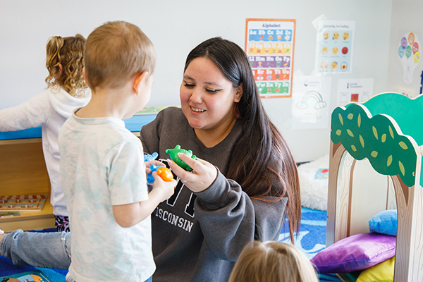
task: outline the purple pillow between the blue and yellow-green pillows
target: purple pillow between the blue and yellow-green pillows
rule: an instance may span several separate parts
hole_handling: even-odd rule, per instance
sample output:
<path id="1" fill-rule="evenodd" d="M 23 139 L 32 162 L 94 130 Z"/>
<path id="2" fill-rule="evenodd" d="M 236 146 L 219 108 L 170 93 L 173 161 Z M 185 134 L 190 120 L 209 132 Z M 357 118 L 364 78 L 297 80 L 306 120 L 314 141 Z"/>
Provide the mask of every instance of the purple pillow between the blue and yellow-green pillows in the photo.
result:
<path id="1" fill-rule="evenodd" d="M 396 236 L 360 233 L 343 238 L 312 258 L 320 273 L 367 269 L 395 256 Z"/>

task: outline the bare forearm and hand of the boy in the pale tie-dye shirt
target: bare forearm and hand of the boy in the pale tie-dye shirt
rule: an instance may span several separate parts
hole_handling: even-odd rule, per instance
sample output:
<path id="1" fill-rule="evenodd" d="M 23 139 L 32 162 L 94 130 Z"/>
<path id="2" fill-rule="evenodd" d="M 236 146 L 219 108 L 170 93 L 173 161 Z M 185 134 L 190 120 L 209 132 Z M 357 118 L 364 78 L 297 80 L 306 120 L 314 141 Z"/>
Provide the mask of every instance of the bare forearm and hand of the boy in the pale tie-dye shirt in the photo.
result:
<path id="1" fill-rule="evenodd" d="M 166 182 L 162 180 L 157 173 L 153 173 L 153 190 L 148 194 L 148 200 L 135 202 L 132 204 L 120 204 L 113 206 L 113 215 L 116 222 L 123 228 L 129 228 L 154 212 L 157 205 L 167 200 L 173 195 L 176 186 L 176 180 Z"/>

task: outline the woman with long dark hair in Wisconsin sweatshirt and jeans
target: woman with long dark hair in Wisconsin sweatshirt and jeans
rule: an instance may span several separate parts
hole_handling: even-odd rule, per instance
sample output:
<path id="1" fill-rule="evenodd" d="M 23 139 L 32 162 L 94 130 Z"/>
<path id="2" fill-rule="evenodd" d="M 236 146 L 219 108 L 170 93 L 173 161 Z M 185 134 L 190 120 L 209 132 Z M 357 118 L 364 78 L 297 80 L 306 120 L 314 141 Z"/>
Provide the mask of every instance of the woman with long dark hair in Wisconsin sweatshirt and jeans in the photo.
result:
<path id="1" fill-rule="evenodd" d="M 176 145 L 199 158 L 180 156 L 192 173 L 164 161 L 179 181 L 173 197 L 152 214 L 153 280 L 227 281 L 247 243 L 278 239 L 287 210 L 291 238 L 298 231 L 295 161 L 264 112 L 247 56 L 237 44 L 216 37 L 188 54 L 180 103 L 181 109 L 164 109 L 140 133 L 145 152 L 158 152 L 160 159 Z M 0 241 L 0 255 L 66 268 L 69 238 L 14 231 Z M 62 245 L 59 254 L 52 244 Z M 44 258 L 32 259 L 29 252 Z"/>

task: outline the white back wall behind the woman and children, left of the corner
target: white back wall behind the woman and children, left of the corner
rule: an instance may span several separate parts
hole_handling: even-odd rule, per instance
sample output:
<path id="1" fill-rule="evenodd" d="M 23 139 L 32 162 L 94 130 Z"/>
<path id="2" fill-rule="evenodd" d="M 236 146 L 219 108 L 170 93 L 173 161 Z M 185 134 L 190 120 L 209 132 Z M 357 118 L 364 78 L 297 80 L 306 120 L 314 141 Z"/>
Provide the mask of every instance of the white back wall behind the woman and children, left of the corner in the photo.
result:
<path id="1" fill-rule="evenodd" d="M 0 0 L 0 109 L 25 102 L 44 89 L 45 44 L 52 35 L 79 32 L 87 37 L 109 20 L 140 26 L 158 54 L 149 103 L 154 106 L 179 104 L 185 57 L 204 39 L 221 36 L 244 47 L 246 18 L 296 19 L 294 72 L 312 75 L 316 47 L 312 20 L 321 14 L 328 20 L 356 21 L 353 73 L 333 75 L 333 109 L 338 78 L 374 78 L 375 92 L 386 89 L 392 6 L 392 0 Z M 329 152 L 329 128 L 292 130 L 290 98 L 263 102 L 297 161 Z"/>

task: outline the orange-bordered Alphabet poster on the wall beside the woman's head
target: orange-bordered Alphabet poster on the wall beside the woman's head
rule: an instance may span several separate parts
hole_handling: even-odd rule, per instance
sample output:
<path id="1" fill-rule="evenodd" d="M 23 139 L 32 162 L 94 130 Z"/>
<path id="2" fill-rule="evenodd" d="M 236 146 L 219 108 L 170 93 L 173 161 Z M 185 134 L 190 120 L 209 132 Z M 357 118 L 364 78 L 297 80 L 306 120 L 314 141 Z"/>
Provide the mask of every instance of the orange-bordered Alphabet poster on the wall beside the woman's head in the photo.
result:
<path id="1" fill-rule="evenodd" d="M 247 18 L 245 52 L 262 98 L 291 97 L 295 20 Z"/>

